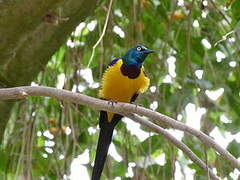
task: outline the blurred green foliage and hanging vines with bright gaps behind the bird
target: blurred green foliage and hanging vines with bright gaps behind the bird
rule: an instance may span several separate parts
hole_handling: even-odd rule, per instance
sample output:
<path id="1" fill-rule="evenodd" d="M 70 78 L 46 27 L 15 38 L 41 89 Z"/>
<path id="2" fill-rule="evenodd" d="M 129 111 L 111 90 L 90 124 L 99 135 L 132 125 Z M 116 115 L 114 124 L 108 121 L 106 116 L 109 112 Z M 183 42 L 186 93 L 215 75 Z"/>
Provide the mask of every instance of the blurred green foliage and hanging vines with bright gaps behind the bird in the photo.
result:
<path id="1" fill-rule="evenodd" d="M 28 75 L 33 76 L 28 84 L 98 97 L 108 63 L 144 45 L 156 53 L 145 61 L 151 85 L 136 104 L 205 132 L 240 160 L 240 1 L 115 0 L 105 35 L 93 52 L 109 3 L 98 2 L 94 13 L 77 22 L 41 71 Z M 62 16 L 59 9 L 56 14 Z M 54 16 L 47 18 L 58 28 Z M 90 179 L 98 116 L 95 109 L 51 98 L 17 101 L 2 131 L 0 179 Z M 239 179 L 238 170 L 197 138 L 168 131 L 219 177 Z M 208 179 L 182 151 L 127 118 L 114 131 L 109 155 L 103 180 Z"/>

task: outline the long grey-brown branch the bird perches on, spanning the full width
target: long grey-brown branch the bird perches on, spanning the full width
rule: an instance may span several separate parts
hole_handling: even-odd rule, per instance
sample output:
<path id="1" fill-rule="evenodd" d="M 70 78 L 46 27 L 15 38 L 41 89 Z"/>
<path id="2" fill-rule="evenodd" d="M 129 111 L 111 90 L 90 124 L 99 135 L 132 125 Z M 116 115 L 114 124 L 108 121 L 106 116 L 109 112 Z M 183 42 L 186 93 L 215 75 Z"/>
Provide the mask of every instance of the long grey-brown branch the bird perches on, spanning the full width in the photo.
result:
<path id="1" fill-rule="evenodd" d="M 136 107 L 135 105 L 128 103 L 117 103 L 114 106 L 111 106 L 107 101 L 104 100 L 96 99 L 79 93 L 73 93 L 67 90 L 60 90 L 44 86 L 23 86 L 16 88 L 0 89 L 0 100 L 21 99 L 28 96 L 48 96 L 62 101 L 83 104 L 99 110 L 112 111 L 120 114 L 136 113 L 141 116 L 146 116 L 151 119 L 158 120 L 162 123 L 168 124 L 174 129 L 182 130 L 198 137 L 204 144 L 211 146 L 218 153 L 220 153 L 226 160 L 228 160 L 232 164 L 233 167 L 240 170 L 240 162 L 228 151 L 218 145 L 211 137 L 207 136 L 201 131 L 198 131 L 182 122 L 176 121 L 161 113 L 143 107 Z"/>

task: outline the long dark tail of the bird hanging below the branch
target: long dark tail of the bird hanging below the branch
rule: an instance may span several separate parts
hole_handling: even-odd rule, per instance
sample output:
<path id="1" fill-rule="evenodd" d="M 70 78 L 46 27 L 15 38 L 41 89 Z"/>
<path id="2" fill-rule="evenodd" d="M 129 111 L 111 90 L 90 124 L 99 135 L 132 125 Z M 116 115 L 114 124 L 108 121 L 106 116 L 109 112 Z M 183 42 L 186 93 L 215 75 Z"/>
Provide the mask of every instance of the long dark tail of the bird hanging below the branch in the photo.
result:
<path id="1" fill-rule="evenodd" d="M 122 118 L 119 114 L 114 114 L 111 122 L 107 120 L 107 113 L 100 112 L 100 134 L 98 138 L 97 152 L 92 172 L 92 180 L 100 180 L 104 163 L 107 157 L 108 148 L 112 141 L 113 130 L 119 120 Z"/>

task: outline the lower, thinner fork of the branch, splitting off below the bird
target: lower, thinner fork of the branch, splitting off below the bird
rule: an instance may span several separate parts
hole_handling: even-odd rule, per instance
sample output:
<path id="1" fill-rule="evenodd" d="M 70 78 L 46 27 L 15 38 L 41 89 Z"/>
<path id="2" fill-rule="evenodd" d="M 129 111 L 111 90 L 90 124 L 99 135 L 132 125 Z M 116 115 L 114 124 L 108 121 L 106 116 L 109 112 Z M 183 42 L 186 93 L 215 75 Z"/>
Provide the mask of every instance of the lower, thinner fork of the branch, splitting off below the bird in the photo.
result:
<path id="1" fill-rule="evenodd" d="M 126 117 L 139 122 L 140 124 L 147 126 L 149 129 L 155 131 L 158 134 L 163 135 L 166 139 L 168 139 L 172 144 L 177 146 L 179 149 L 183 151 L 195 164 L 197 164 L 200 168 L 202 168 L 206 173 L 209 173 L 210 177 L 214 180 L 219 179 L 212 170 L 207 167 L 207 165 L 199 159 L 192 151 L 189 149 L 189 147 L 186 146 L 186 144 L 182 143 L 181 141 L 177 140 L 173 135 L 171 135 L 169 132 L 167 132 L 162 127 L 157 126 L 156 124 L 152 123 L 151 121 L 148 121 L 144 118 L 141 118 L 140 116 L 136 114 L 126 114 Z"/>

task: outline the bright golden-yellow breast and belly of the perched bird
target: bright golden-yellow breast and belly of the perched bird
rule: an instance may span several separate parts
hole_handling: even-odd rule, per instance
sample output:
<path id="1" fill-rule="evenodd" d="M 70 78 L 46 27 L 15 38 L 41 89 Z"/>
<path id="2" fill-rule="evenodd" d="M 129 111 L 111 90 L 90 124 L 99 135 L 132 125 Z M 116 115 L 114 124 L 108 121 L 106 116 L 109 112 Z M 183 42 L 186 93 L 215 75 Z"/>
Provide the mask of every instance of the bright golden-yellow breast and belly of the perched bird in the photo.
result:
<path id="1" fill-rule="evenodd" d="M 122 60 L 108 67 L 103 74 L 102 86 L 99 97 L 119 102 L 130 102 L 135 93 L 143 93 L 147 90 L 150 80 L 144 75 L 144 68 L 141 68 L 140 75 L 130 79 L 121 73 Z M 111 118 L 109 118 L 111 121 Z"/>

